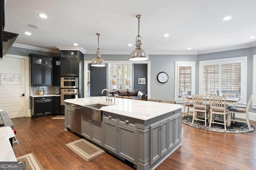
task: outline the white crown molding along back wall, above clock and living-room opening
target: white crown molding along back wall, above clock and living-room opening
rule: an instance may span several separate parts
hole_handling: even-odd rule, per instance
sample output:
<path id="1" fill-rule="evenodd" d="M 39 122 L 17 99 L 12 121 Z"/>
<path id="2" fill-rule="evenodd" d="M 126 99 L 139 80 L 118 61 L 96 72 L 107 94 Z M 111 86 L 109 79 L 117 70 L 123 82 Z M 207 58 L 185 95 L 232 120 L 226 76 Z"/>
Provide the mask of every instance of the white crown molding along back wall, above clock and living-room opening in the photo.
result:
<path id="1" fill-rule="evenodd" d="M 130 55 L 131 51 L 101 51 L 103 55 Z M 86 51 L 86 54 L 96 54 L 96 51 Z M 148 51 L 148 55 L 197 55 L 197 51 Z"/>

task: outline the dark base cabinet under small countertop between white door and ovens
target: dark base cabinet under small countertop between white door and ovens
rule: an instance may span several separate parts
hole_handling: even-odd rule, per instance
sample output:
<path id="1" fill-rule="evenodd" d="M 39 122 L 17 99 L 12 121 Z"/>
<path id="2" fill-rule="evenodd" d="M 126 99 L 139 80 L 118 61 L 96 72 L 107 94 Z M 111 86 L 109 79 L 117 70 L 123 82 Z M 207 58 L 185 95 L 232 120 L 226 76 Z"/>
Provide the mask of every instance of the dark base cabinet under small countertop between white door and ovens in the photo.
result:
<path id="1" fill-rule="evenodd" d="M 52 114 L 52 97 L 31 97 L 31 115 L 40 117 Z"/>

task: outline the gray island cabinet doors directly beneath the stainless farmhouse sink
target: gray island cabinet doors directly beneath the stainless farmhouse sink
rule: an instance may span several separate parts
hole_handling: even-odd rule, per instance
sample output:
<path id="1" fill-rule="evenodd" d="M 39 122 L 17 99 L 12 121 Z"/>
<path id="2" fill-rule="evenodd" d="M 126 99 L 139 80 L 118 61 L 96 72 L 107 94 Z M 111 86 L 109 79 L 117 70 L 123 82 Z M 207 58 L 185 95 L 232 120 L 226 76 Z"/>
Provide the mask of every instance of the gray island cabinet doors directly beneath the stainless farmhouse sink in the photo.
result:
<path id="1" fill-rule="evenodd" d="M 103 146 L 102 123 L 82 116 L 82 136 Z"/>

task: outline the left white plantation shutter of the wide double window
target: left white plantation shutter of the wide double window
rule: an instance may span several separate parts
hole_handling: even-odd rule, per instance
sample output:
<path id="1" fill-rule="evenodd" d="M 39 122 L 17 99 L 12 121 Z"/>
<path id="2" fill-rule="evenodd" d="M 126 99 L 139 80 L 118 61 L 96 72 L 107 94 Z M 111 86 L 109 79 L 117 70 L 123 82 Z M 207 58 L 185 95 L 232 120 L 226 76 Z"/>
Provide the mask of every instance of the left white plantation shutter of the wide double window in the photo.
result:
<path id="1" fill-rule="evenodd" d="M 203 94 L 206 92 L 218 92 L 220 78 L 219 64 L 203 66 Z"/>

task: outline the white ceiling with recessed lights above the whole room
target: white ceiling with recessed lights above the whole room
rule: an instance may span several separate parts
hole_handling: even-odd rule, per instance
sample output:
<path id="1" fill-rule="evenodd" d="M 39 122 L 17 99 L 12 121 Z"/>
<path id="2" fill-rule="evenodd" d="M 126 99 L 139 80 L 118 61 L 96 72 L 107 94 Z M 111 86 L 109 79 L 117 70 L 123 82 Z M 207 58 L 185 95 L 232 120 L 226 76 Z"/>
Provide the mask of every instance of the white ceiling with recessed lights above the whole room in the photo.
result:
<path id="1" fill-rule="evenodd" d="M 101 54 L 130 54 L 141 14 L 149 55 L 202 54 L 256 46 L 256 38 L 248 38 L 256 35 L 255 7 L 256 0 L 6 0 L 4 31 L 19 34 L 15 43 L 46 49 L 78 43 L 90 54 L 101 33 Z M 226 16 L 232 19 L 223 21 Z"/>

